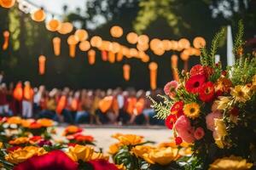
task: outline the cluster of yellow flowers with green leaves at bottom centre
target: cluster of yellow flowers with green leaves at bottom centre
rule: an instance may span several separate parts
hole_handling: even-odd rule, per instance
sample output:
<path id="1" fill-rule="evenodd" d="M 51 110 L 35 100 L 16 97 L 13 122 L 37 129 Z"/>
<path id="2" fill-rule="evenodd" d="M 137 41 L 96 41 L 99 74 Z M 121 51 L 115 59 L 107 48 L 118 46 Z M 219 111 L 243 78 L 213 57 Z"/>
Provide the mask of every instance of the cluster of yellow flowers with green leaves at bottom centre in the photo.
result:
<path id="1" fill-rule="evenodd" d="M 169 169 L 177 167 L 175 161 L 181 156 L 191 155 L 189 144 L 183 142 L 162 143 L 157 146 L 150 141 L 144 141 L 142 136 L 135 134 L 113 135 L 119 142 L 110 145 L 108 153 L 113 156 L 113 161 L 119 169 Z M 174 163 L 174 165 L 173 165 Z"/>

